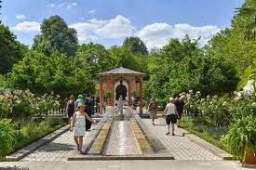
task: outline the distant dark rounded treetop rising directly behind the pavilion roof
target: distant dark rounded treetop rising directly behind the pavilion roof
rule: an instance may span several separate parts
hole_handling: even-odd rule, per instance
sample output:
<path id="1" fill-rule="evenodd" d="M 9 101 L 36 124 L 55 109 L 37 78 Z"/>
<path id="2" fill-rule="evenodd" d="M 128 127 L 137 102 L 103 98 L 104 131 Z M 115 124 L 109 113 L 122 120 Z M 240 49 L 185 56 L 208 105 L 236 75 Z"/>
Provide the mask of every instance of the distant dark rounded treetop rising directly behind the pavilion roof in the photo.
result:
<path id="1" fill-rule="evenodd" d="M 126 38 L 122 47 L 127 48 L 133 54 L 148 55 L 147 47 L 139 37 Z"/>

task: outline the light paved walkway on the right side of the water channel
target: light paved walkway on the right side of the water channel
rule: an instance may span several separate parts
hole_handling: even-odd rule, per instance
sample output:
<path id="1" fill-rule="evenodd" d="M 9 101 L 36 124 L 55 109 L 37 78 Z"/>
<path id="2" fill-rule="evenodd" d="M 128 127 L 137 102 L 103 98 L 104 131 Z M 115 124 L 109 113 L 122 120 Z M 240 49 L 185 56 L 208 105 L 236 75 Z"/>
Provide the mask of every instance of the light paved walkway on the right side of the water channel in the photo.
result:
<path id="1" fill-rule="evenodd" d="M 182 134 L 178 132 L 175 132 L 176 136 L 167 136 L 167 126 L 163 118 L 156 119 L 155 125 L 151 124 L 150 119 L 142 119 L 142 121 L 162 141 L 174 156 L 175 160 L 221 160 L 219 157 L 199 147 L 188 138 L 182 137 Z"/>

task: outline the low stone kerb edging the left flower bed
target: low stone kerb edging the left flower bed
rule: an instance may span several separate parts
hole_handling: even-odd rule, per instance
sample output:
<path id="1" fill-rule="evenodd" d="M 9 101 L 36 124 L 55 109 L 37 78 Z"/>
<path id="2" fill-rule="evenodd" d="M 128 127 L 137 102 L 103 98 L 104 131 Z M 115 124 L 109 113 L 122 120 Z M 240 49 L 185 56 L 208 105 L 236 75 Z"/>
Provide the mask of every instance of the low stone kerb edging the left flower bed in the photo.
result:
<path id="1" fill-rule="evenodd" d="M 69 129 L 69 125 L 65 125 L 65 126 L 61 127 L 60 129 L 50 133 L 46 137 L 43 137 L 43 138 L 35 141 L 34 143 L 28 145 L 27 147 L 25 147 L 21 150 L 18 150 L 16 152 L 12 153 L 11 155 L 7 156 L 6 161 L 14 161 L 14 162 L 20 161 L 20 159 L 29 155 L 34 150 L 37 150 L 38 148 L 46 145 L 48 142 L 54 140 L 55 138 L 60 137 L 61 134 L 68 131 L 68 129 Z"/>

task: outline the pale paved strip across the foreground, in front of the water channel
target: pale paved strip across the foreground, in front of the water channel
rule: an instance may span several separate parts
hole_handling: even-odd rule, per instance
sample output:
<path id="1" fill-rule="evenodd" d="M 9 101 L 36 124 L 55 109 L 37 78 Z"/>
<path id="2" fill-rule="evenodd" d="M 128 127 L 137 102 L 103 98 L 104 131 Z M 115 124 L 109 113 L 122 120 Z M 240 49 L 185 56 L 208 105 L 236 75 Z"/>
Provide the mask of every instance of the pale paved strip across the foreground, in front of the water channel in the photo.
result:
<path id="1" fill-rule="evenodd" d="M 7 166 L 20 166 L 29 170 L 248 170 L 234 161 L 74 161 L 74 162 L 18 162 L 0 163 L 1 170 Z"/>

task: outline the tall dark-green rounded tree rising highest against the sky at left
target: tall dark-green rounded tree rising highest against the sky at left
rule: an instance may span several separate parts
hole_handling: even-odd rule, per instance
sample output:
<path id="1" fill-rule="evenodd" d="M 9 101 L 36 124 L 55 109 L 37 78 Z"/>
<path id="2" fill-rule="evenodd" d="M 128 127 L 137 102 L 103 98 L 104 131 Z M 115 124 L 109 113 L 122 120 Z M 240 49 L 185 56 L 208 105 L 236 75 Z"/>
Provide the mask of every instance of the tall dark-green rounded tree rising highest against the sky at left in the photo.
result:
<path id="1" fill-rule="evenodd" d="M 51 16 L 42 22 L 41 34 L 34 37 L 33 48 L 46 55 L 59 51 L 67 56 L 74 56 L 77 45 L 76 31 L 68 28 L 60 16 Z"/>

